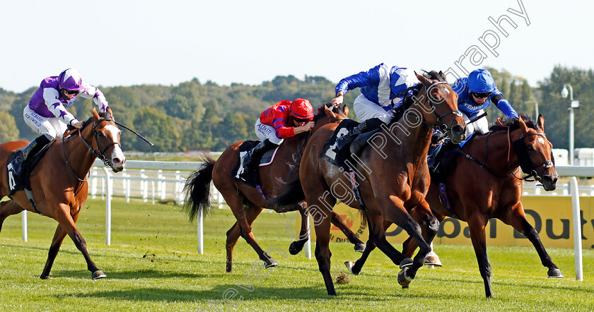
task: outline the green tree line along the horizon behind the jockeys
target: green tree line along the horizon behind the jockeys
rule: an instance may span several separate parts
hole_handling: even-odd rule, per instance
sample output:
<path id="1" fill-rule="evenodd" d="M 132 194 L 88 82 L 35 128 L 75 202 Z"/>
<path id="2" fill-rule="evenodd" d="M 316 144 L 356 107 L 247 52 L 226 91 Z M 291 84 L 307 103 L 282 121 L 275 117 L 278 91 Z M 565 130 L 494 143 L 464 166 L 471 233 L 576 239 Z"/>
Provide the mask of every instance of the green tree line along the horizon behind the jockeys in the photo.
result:
<path id="1" fill-rule="evenodd" d="M 573 86 L 573 97 L 580 100 L 576 113 L 576 148 L 593 145 L 594 133 L 588 131 L 587 116 L 593 115 L 594 75 L 592 70 L 556 66 L 549 78 L 537 88 L 505 70 L 489 68 L 503 95 L 518 112 L 535 113 L 535 103 L 545 118 L 549 140 L 555 148 L 568 148 L 569 99 L 561 98 L 564 83 Z M 40 78 L 41 80 L 41 78 Z M 240 140 L 256 139 L 254 124 L 260 113 L 280 100 L 303 97 L 314 107 L 334 97 L 334 86 L 324 77 L 276 76 L 260 85 L 217 85 L 200 83 L 197 78 L 179 85 L 134 85 L 99 88 L 105 93 L 115 119 L 146 136 L 155 147 L 122 131 L 124 150 L 178 152 L 184 150 L 224 150 Z M 0 88 L 0 142 L 32 140 L 35 133 L 23 121 L 23 108 L 36 87 L 22 93 Z M 351 106 L 358 90 L 347 92 L 344 102 Z M 78 119 L 91 116 L 93 102 L 78 98 L 69 107 Z M 489 121 L 502 116 L 494 105 L 487 112 Z M 351 113 L 351 118 L 355 118 Z M 533 116 L 534 118 L 534 116 Z"/>

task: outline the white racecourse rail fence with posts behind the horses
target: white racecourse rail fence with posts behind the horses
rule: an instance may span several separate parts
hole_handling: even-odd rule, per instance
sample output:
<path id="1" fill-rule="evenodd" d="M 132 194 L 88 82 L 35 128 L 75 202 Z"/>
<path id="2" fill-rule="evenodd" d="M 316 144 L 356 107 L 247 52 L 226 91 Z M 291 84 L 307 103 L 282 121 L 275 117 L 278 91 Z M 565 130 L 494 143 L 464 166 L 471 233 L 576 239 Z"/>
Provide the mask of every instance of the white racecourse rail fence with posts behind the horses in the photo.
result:
<path id="1" fill-rule="evenodd" d="M 88 176 L 89 196 L 105 199 L 105 244 L 111 244 L 111 198 L 121 196 L 126 198 L 142 198 L 145 202 L 151 198 L 151 203 L 156 201 L 175 200 L 178 205 L 183 205 L 183 187 L 187 176 L 199 169 L 202 162 L 154 162 L 129 160 L 126 169 L 119 174 L 112 174 L 109 167 L 103 162 L 95 160 Z M 536 182 L 524 184 L 523 195 L 532 196 L 570 196 L 572 198 L 573 224 L 581 224 L 579 196 L 594 196 L 594 186 L 578 186 L 576 177 L 589 179 L 594 176 L 594 167 L 586 166 L 557 166 L 559 176 L 569 177 L 568 184 L 557 185 L 557 190 L 542 192 L 542 187 Z M 149 196 L 150 194 L 150 196 Z M 223 208 L 221 193 L 211 184 L 211 194 L 214 203 Z M 197 243 L 199 253 L 204 253 L 203 242 L 203 215 L 197 216 Z M 27 241 L 27 213 L 22 213 L 23 241 Z M 581 227 L 573 226 L 573 245 L 576 263 L 576 280 L 583 280 L 583 263 L 581 247 Z M 306 247 L 306 256 L 310 258 L 310 242 Z"/>

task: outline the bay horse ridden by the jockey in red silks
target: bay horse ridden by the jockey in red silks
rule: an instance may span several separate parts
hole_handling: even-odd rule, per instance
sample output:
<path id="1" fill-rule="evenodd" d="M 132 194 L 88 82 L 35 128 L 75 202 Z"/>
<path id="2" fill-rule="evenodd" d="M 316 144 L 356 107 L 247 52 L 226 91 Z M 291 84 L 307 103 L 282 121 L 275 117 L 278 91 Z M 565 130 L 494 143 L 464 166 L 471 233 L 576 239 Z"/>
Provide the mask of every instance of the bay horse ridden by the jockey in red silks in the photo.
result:
<path id="1" fill-rule="evenodd" d="M 337 112 L 330 111 L 326 106 L 318 108 L 318 112 L 313 119 L 313 121 L 315 121 L 315 126 L 311 132 L 315 133 L 318 128 L 329 122 L 347 118 L 348 113 L 349 110 L 346 105 L 344 105 L 342 110 Z M 231 272 L 233 269 L 233 247 L 240 236 L 254 248 L 254 251 L 256 251 L 260 260 L 264 261 L 264 265 L 267 268 L 278 265 L 278 263 L 276 263 L 276 261 L 257 244 L 251 226 L 252 222 L 254 222 L 258 215 L 260 215 L 263 208 L 271 208 L 267 205 L 266 200 L 278 196 L 279 192 L 284 189 L 286 181 L 297 180 L 298 164 L 301 159 L 301 153 L 309 138 L 310 133 L 301 133 L 293 138 L 285 139 L 276 151 L 272 164 L 260 167 L 260 182 L 266 199 L 262 198 L 255 187 L 245 184 L 238 179 L 234 179 L 231 176 L 231 171 L 240 157 L 238 148 L 243 142 L 238 142 L 228 147 L 216 162 L 209 157 L 206 157 L 206 159 L 204 159 L 206 164 L 188 177 L 184 188 L 186 200 L 184 209 L 189 213 L 190 220 L 193 220 L 199 211 L 202 210 L 207 212 L 209 210 L 211 181 L 213 181 L 214 186 L 221 192 L 226 203 L 233 211 L 233 215 L 237 219 L 237 222 L 235 222 L 233 227 L 227 232 L 227 272 Z M 295 210 L 298 210 L 301 213 L 301 234 L 300 239 L 293 241 L 289 248 L 289 251 L 293 255 L 301 251 L 303 244 L 308 240 L 308 229 L 306 225 L 307 211 L 300 203 L 295 203 L 294 205 L 291 205 L 291 207 L 286 207 L 283 210 L 276 210 L 277 212 L 289 212 Z M 344 224 L 342 218 L 334 213 L 332 220 L 334 225 L 347 234 L 349 241 L 351 241 L 352 244 L 355 244 L 356 251 L 363 251 L 365 244 L 363 244 L 363 241 L 361 241 L 356 234 L 351 232 L 349 227 Z"/>

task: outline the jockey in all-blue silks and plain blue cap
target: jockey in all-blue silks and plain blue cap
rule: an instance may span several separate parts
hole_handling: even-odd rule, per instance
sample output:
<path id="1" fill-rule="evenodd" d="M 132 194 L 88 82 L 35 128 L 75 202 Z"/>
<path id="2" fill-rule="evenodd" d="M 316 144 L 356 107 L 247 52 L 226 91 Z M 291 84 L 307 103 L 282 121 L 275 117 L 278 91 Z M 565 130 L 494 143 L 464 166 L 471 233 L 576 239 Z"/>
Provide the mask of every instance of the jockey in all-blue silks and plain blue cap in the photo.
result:
<path id="1" fill-rule="evenodd" d="M 453 90 L 458 93 L 458 109 L 463 113 L 462 118 L 468 122 L 474 116 L 484 113 L 491 102 L 508 118 L 518 118 L 518 113 L 511 107 L 508 100 L 503 98 L 503 93 L 497 89 L 493 76 L 486 69 L 472 71 L 468 78 L 458 78 L 453 85 Z M 467 124 L 466 137 L 470 138 L 473 132 L 487 133 L 489 122 L 481 118 L 472 124 Z"/>

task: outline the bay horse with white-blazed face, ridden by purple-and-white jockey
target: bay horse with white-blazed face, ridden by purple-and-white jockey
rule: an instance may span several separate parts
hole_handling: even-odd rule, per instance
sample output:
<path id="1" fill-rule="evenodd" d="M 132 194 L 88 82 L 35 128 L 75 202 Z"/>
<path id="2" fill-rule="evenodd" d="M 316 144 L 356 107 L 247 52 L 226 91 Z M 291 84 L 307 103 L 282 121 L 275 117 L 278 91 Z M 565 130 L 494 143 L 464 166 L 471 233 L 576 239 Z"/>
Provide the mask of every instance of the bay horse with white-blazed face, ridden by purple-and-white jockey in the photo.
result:
<path id="1" fill-rule="evenodd" d="M 13 150 L 27 144 L 26 141 L 0 144 L 0 197 L 8 196 L 6 160 Z M 6 217 L 23 210 L 38 212 L 58 222 L 50 253 L 41 273 L 44 280 L 50 278 L 52 264 L 66 234 L 83 253 L 93 280 L 105 277 L 88 255 L 86 241 L 75 224 L 88 193 L 88 183 L 84 178 L 96 157 L 109 164 L 114 172 L 121 172 L 126 163 L 120 148 L 120 130 L 109 108 L 102 114 L 93 109 L 93 116 L 83 123 L 81 130 L 54 141 L 35 165 L 30 174 L 30 184 L 38 211 L 29 203 L 25 191 L 16 191 L 11 200 L 0 203 L 0 229 Z"/>

